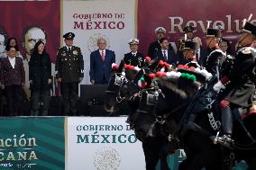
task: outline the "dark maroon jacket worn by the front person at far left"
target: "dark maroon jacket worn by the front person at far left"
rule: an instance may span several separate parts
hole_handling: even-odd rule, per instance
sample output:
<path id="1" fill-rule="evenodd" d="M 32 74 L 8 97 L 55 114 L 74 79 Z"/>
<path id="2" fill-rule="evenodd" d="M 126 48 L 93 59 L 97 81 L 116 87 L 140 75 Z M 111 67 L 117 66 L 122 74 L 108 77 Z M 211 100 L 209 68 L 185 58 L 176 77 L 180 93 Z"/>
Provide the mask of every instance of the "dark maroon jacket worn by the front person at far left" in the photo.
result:
<path id="1" fill-rule="evenodd" d="M 15 57 L 15 66 L 12 67 L 8 58 L 1 58 L 1 84 L 24 85 L 25 71 L 23 67 L 23 59 Z"/>

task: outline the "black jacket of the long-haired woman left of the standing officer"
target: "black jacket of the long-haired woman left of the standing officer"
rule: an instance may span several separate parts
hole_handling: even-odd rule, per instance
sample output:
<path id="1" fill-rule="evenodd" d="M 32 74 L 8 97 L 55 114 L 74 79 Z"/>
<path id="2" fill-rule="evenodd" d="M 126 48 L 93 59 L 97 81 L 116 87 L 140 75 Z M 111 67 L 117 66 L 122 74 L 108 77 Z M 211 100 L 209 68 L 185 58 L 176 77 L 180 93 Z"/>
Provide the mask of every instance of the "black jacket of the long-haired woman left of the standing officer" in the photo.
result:
<path id="1" fill-rule="evenodd" d="M 48 89 L 48 79 L 51 79 L 50 57 L 48 53 L 32 55 L 29 62 L 29 80 L 31 90 Z"/>

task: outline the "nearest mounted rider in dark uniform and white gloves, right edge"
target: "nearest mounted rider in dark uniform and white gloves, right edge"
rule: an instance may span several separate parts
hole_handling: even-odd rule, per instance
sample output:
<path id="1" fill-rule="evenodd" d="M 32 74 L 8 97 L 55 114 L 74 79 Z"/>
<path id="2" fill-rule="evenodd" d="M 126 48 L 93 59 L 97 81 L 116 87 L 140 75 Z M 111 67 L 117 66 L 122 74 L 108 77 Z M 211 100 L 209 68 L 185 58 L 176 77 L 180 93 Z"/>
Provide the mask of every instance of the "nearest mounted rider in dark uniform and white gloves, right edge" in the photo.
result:
<path id="1" fill-rule="evenodd" d="M 221 77 L 214 85 L 216 92 L 224 90 L 220 102 L 222 112 L 223 135 L 217 137 L 217 141 L 233 141 L 233 113 L 242 115 L 242 107 L 247 108 L 252 104 L 252 95 L 255 91 L 255 56 L 251 48 L 256 40 L 256 25 L 246 22 L 242 27 L 238 45 L 242 47 L 236 53 L 233 60 L 233 67 L 228 74 Z"/>

